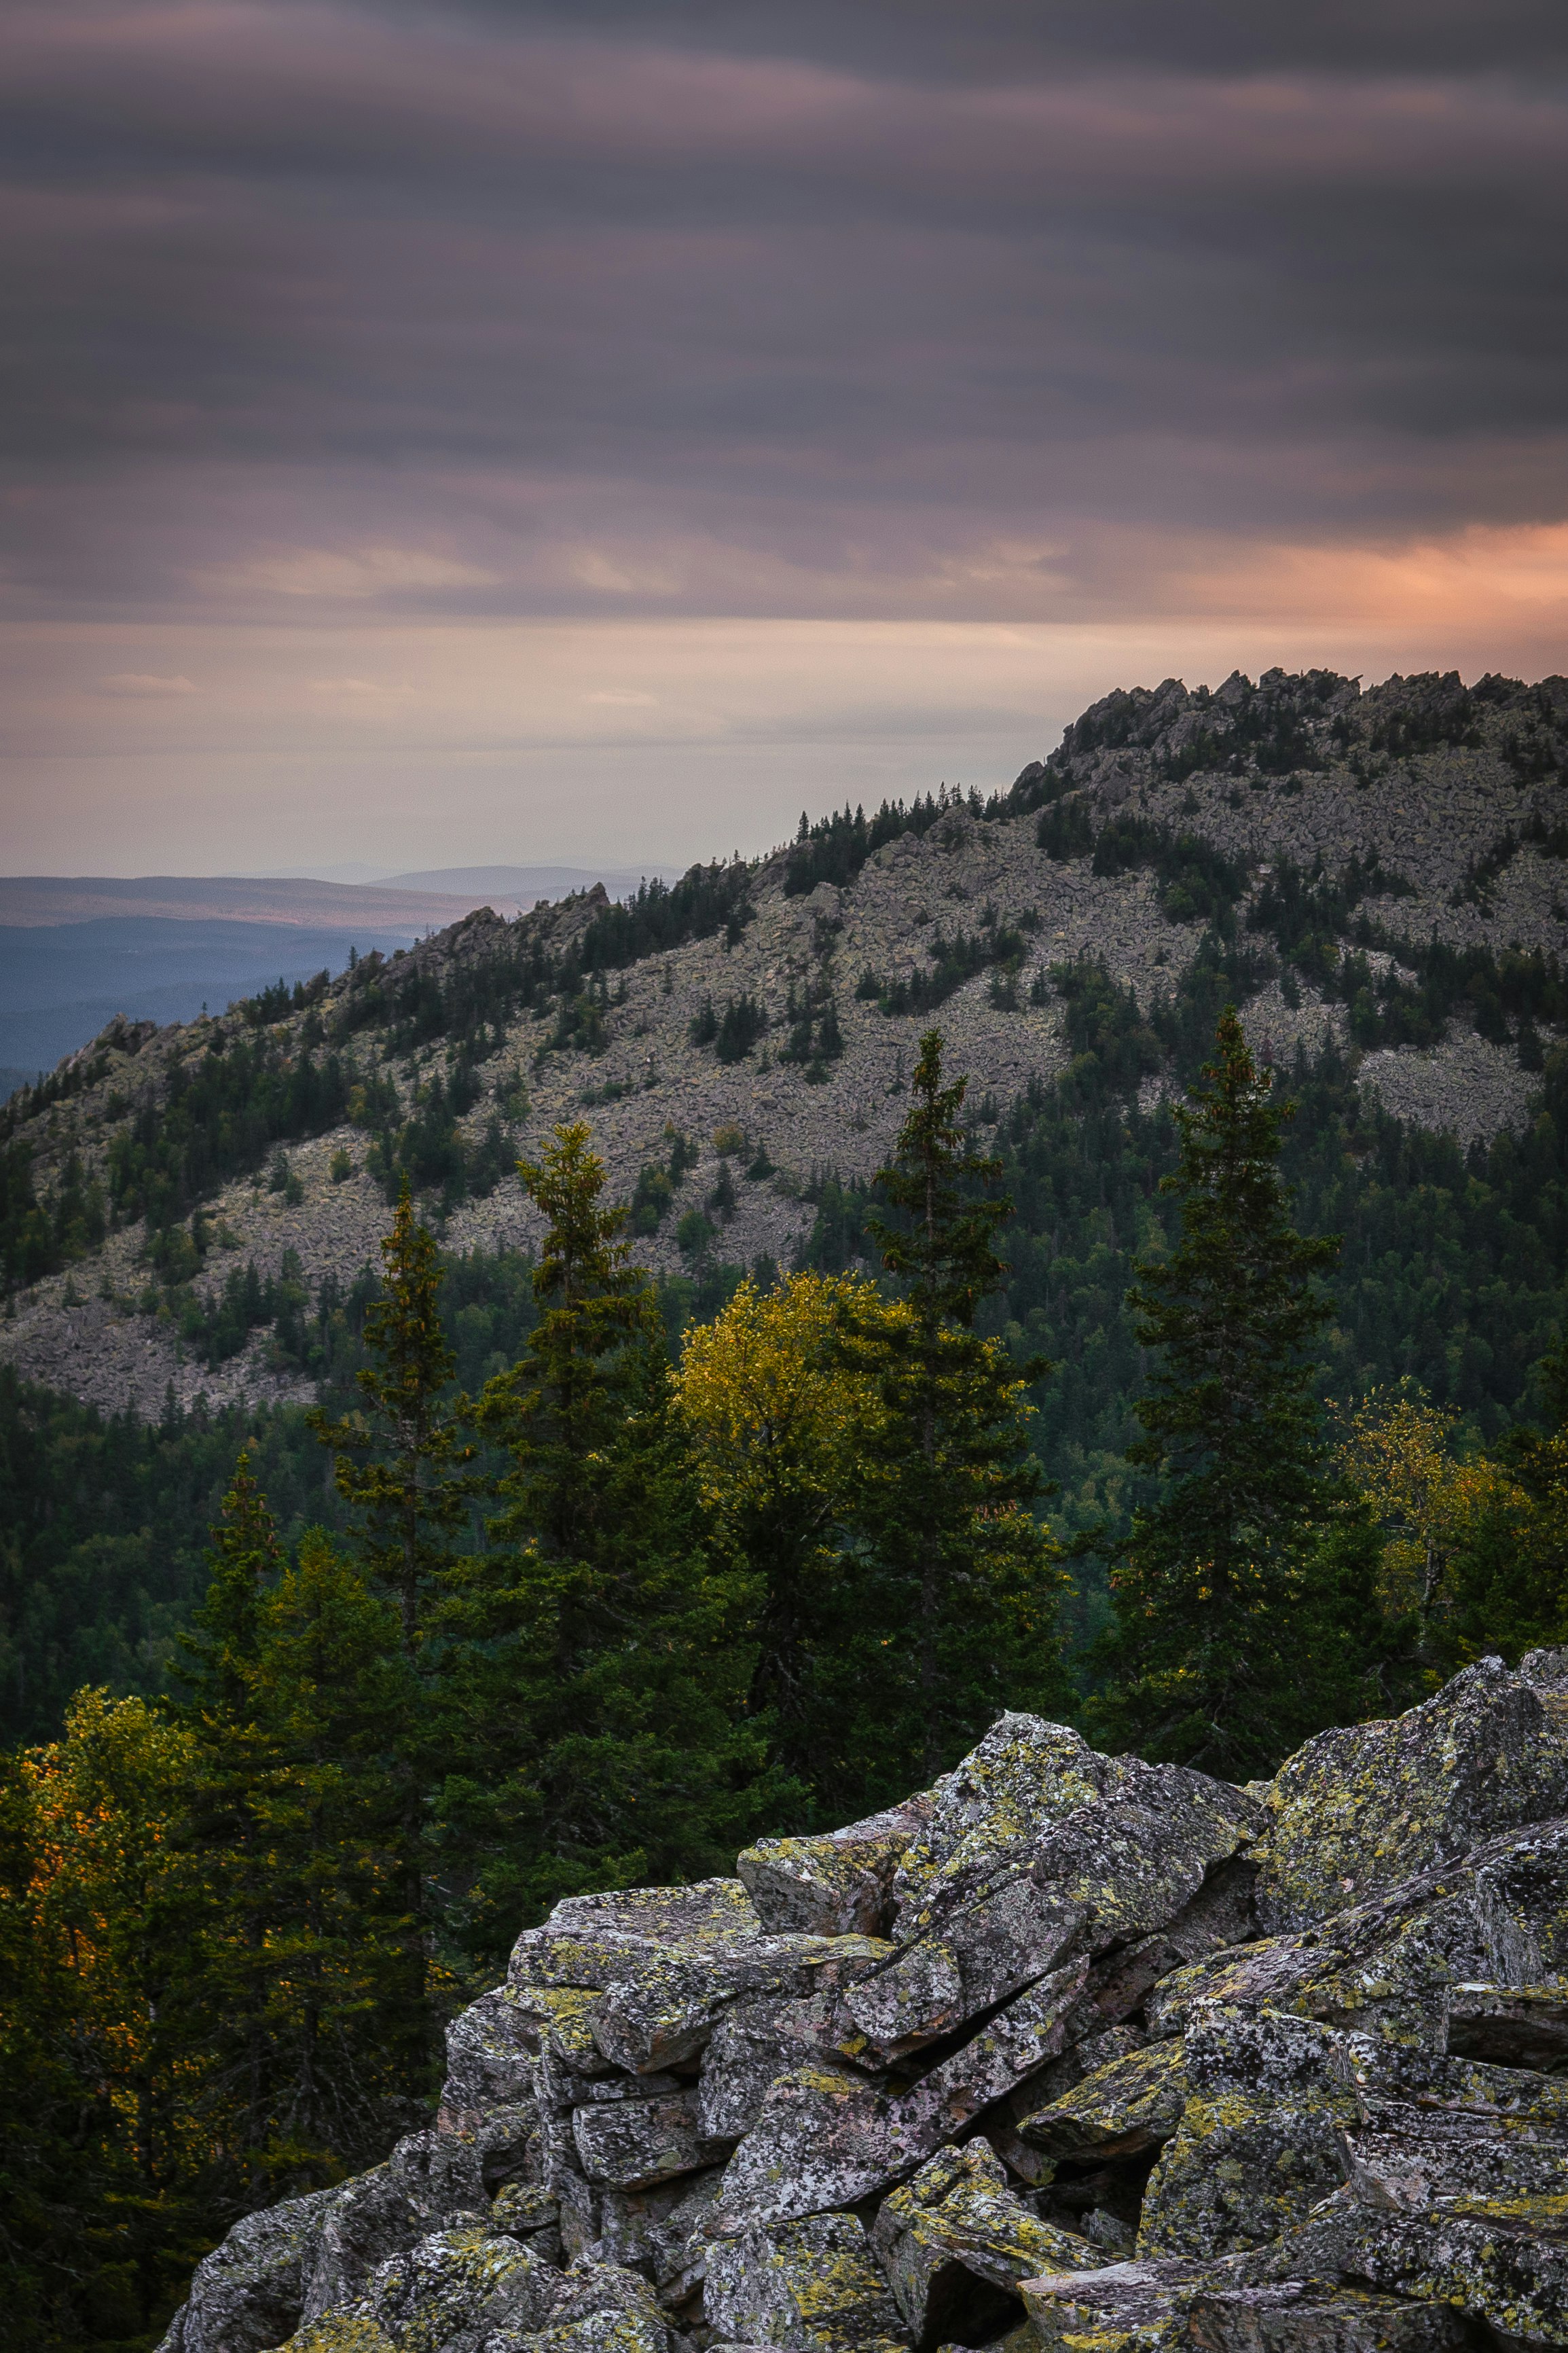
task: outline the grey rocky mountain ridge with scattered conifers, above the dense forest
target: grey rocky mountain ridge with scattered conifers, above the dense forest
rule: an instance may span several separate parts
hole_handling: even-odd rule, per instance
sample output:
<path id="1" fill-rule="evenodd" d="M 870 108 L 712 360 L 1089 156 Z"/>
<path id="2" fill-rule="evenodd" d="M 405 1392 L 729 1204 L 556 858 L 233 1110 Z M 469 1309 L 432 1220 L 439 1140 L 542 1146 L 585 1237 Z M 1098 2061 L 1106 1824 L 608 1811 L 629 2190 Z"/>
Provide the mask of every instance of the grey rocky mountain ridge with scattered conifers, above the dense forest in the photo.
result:
<path id="1" fill-rule="evenodd" d="M 590 1120 L 654 1271 L 689 1264 L 682 1212 L 715 1198 L 724 1261 L 790 1264 L 820 1176 L 886 1155 L 931 1019 L 1004 1115 L 1070 1066 L 1086 960 L 1152 1016 L 1215 920 L 1258 1049 L 1338 1042 L 1406 1120 L 1519 1129 L 1561 1028 L 1566 755 L 1563 678 L 1166 680 L 990 800 L 802 821 L 632 906 L 482 911 L 221 1016 L 110 1024 L 0 1115 L 0 1358 L 143 1412 L 169 1386 L 306 1395 L 254 1308 L 244 1346 L 193 1337 L 230 1278 L 343 1292 L 400 1169 L 449 1249 L 529 1245 L 512 1158 L 564 1118 Z M 1145 1094 L 1168 1085 L 1145 1068 Z"/>

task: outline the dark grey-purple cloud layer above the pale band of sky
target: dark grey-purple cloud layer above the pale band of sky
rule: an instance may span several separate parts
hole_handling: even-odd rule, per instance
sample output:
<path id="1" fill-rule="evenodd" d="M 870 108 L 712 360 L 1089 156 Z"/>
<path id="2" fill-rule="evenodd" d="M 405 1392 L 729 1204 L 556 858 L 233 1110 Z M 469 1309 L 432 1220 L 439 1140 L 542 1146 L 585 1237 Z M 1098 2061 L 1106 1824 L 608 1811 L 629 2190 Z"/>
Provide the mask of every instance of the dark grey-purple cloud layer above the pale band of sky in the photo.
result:
<path id="1" fill-rule="evenodd" d="M 1563 511 L 1561 7 L 273 0 L 2 40 L 12 600 L 912 576 L 997 612 L 1063 536 L 1114 595 L 1147 529 Z M 999 539 L 1039 548 L 971 560 Z M 268 555 L 388 544 L 430 560 Z"/>

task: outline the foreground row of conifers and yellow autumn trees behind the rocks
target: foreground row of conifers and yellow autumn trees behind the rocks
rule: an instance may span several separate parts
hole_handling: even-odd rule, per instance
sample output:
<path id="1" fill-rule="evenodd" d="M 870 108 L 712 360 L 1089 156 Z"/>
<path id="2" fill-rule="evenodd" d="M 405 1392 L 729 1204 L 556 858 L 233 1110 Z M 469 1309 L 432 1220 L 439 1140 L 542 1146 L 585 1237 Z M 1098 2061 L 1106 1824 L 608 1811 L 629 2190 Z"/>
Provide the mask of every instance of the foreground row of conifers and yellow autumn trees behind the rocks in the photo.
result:
<path id="1" fill-rule="evenodd" d="M 931 1781 L 1001 1708 L 1244 1779 L 1483 1647 L 1563 1631 L 1568 1358 L 1547 1431 L 1460 1464 L 1415 1391 L 1335 1447 L 1333 1240 L 1291 1224 L 1291 1106 L 1234 1012 L 1138 1261 L 1154 1501 L 1070 1675 L 1072 1562 L 1030 1391 L 976 1329 L 1011 1205 L 922 1040 L 875 1273 L 745 1280 L 670 1360 L 583 1125 L 520 1167 L 534 1322 L 454 1384 L 404 1188 L 346 1412 L 346 1529 L 284 1546 L 247 1452 L 179 1689 L 85 1689 L 5 1760 L 0 2259 L 38 2344 L 150 2344 L 233 2214 L 428 2113 L 440 2026 L 564 1894 L 698 1878 Z"/>

